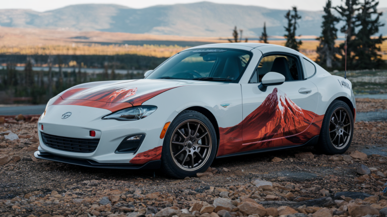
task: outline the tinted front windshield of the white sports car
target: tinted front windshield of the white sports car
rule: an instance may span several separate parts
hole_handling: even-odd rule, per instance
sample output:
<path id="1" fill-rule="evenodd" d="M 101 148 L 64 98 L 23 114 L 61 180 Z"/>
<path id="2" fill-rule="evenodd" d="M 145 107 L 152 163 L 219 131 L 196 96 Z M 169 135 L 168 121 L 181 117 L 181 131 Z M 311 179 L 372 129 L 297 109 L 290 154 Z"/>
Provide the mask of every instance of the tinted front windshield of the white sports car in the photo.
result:
<path id="1" fill-rule="evenodd" d="M 249 51 L 230 48 L 186 50 L 169 58 L 147 79 L 238 82 L 251 56 Z"/>

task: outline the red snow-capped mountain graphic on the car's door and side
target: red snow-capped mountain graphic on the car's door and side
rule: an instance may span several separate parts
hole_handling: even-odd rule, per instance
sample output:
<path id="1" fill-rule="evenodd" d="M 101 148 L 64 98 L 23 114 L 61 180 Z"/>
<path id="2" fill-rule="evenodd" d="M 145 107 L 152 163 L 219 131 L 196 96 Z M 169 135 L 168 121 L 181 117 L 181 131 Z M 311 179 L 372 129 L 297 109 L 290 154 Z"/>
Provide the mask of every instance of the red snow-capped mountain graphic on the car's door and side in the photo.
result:
<path id="1" fill-rule="evenodd" d="M 285 93 L 274 88 L 242 122 L 219 128 L 218 156 L 305 143 L 319 134 L 322 118 L 324 115 L 298 107 Z"/>

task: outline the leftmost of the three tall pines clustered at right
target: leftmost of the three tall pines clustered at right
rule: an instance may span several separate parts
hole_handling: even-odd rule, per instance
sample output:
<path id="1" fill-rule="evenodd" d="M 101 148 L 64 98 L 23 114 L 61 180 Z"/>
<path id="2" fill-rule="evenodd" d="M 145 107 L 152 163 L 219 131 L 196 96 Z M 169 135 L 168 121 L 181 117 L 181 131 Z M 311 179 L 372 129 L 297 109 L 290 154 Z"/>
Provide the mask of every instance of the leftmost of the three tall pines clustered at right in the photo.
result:
<path id="1" fill-rule="evenodd" d="M 335 40 L 337 39 L 337 31 L 335 25 L 340 21 L 338 17 L 335 17 L 332 12 L 332 2 L 328 0 L 324 7 L 325 15 L 322 16 L 321 36 L 317 38 L 320 44 L 317 46 L 317 60 L 320 65 L 326 65 L 328 68 L 332 68 L 332 61 L 336 61 L 336 53 L 338 49 L 335 48 Z"/>

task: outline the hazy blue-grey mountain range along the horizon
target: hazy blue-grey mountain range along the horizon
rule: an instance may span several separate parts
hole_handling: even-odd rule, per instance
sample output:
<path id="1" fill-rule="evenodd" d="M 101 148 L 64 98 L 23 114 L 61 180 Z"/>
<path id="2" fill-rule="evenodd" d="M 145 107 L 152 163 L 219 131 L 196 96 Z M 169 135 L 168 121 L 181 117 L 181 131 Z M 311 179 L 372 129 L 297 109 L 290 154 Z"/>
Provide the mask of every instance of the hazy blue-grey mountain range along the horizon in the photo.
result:
<path id="1" fill-rule="evenodd" d="M 387 35 L 387 8 L 380 33 Z M 229 37 L 234 26 L 243 35 L 261 35 L 266 22 L 269 35 L 284 35 L 285 10 L 209 2 L 132 9 L 119 5 L 72 5 L 47 12 L 0 10 L 0 26 L 77 31 L 147 33 L 156 35 Z M 320 35 L 322 9 L 300 11 L 297 34 Z M 338 27 L 341 27 L 339 24 Z"/>

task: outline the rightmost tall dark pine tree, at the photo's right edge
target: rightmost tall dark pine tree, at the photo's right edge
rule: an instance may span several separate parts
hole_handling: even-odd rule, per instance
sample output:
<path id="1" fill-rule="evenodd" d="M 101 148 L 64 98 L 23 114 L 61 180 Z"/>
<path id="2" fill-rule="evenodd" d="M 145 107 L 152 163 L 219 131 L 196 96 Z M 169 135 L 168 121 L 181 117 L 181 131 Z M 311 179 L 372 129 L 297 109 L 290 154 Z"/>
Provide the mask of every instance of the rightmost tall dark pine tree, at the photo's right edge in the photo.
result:
<path id="1" fill-rule="evenodd" d="M 352 41 L 355 68 L 367 69 L 378 68 L 384 61 L 381 59 L 381 55 L 377 52 L 380 51 L 380 46 L 385 39 L 380 34 L 379 37 L 371 38 L 379 32 L 379 27 L 384 26 L 380 23 L 379 18 L 382 15 L 381 12 L 377 12 L 376 7 L 379 2 L 377 0 L 364 0 L 364 3 L 360 4 L 359 14 L 356 16 L 355 28 L 359 28 L 356 33 L 356 38 Z"/>

